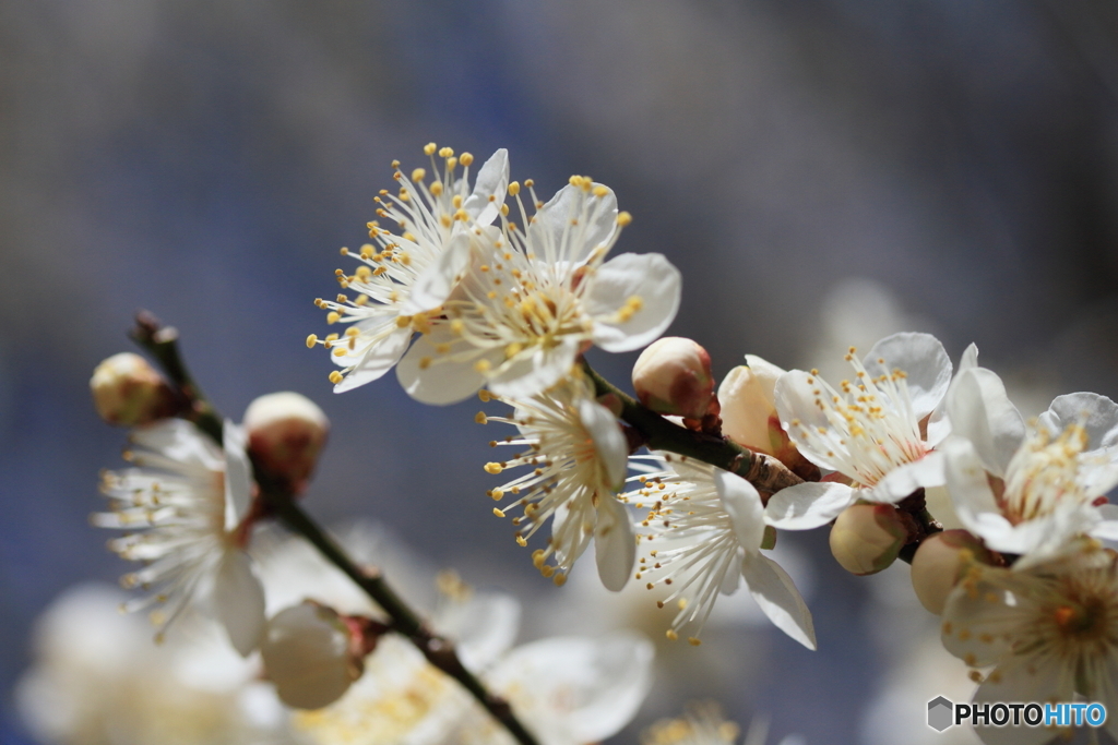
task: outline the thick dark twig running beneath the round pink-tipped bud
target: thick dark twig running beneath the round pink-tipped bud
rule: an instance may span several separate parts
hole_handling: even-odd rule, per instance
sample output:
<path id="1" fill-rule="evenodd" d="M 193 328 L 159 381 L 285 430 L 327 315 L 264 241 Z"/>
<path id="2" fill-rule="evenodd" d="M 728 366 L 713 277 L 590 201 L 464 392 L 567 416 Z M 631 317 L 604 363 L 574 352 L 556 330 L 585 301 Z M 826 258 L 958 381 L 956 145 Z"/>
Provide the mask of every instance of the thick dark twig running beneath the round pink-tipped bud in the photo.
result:
<path id="1" fill-rule="evenodd" d="M 756 486 L 762 498 L 803 484 L 804 479 L 771 456 L 742 448 L 724 437 L 673 424 L 599 375 L 585 359 L 582 370 L 594 381 L 597 395 L 616 397 L 622 407 L 620 418 L 644 437 L 650 450 L 669 450 L 737 474 Z"/>

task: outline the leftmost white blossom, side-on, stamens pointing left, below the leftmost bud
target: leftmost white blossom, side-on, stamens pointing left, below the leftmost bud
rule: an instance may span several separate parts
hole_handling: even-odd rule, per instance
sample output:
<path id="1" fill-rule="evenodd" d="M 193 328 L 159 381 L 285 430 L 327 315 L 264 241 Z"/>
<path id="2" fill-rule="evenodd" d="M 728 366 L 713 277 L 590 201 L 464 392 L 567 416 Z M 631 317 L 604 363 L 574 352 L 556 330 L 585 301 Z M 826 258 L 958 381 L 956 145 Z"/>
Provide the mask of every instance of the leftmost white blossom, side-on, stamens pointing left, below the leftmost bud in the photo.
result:
<path id="1" fill-rule="evenodd" d="M 196 596 L 208 600 L 241 655 L 264 630 L 264 590 L 244 551 L 250 526 L 252 468 L 245 434 L 226 422 L 224 451 L 193 424 L 169 419 L 133 430 L 125 459 L 139 468 L 106 471 L 102 491 L 113 512 L 91 516 L 100 527 L 127 531 L 110 542 L 122 558 L 145 566 L 125 574 L 126 588 L 151 591 L 130 611 L 160 604 L 157 639 Z"/>

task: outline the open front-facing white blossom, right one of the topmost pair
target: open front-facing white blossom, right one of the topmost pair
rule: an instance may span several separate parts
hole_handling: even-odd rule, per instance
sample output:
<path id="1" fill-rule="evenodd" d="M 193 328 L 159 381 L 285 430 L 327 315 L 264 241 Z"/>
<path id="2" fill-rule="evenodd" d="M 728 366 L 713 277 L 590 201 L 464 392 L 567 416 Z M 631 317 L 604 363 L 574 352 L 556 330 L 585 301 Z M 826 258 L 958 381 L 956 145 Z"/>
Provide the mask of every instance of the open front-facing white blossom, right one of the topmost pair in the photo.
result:
<path id="1" fill-rule="evenodd" d="M 623 254 L 605 261 L 629 221 L 609 188 L 571 176 L 547 204 L 532 190 L 531 217 L 520 184 L 509 193 L 527 229 L 504 221 L 491 259 L 471 268 L 461 296 L 445 304 L 446 317 L 432 322 L 397 367 L 418 401 L 453 403 L 483 384 L 531 397 L 568 375 L 589 345 L 637 350 L 675 317 L 680 273 L 667 259 Z"/>

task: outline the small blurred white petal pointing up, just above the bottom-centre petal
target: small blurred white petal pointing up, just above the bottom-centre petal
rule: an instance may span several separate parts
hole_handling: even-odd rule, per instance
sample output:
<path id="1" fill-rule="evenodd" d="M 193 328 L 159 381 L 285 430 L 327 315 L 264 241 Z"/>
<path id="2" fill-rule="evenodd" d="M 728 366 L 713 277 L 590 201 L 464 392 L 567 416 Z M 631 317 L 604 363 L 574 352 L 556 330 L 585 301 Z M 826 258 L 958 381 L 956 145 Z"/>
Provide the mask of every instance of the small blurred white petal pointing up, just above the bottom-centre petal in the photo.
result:
<path id="1" fill-rule="evenodd" d="M 512 647 L 520 627 L 520 603 L 503 593 L 479 592 L 465 602 L 446 603 L 432 623 L 455 641 L 466 669 L 477 672 Z"/>

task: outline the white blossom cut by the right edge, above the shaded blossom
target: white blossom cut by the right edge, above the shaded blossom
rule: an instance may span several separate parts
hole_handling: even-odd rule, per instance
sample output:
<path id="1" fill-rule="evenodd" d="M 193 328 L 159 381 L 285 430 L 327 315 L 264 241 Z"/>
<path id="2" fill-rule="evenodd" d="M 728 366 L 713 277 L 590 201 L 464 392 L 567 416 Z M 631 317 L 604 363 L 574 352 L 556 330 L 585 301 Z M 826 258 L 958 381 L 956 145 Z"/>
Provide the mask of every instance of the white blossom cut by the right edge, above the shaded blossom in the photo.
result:
<path id="1" fill-rule="evenodd" d="M 955 436 L 944 442 L 947 487 L 964 527 L 1025 569 L 1077 535 L 1118 539 L 1118 404 L 1096 393 L 1058 397 L 1026 426 L 998 376 L 970 365 L 947 397 Z"/>

